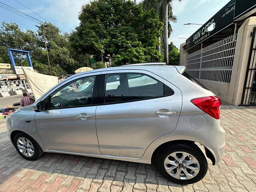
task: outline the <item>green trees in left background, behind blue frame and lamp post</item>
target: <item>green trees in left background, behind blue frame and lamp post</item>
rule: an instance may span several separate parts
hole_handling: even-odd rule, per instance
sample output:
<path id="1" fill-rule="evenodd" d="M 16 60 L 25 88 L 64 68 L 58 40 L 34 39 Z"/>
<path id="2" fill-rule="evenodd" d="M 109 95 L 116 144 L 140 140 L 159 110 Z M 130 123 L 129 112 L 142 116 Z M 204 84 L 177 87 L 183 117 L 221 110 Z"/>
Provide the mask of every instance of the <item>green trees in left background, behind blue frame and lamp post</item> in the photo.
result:
<path id="1" fill-rule="evenodd" d="M 42 32 L 44 25 L 46 23 L 41 24 L 36 32 L 32 30 L 22 32 L 17 24 L 3 22 L 0 27 L 0 62 L 10 63 L 8 48 L 28 50 L 34 68 L 43 74 L 50 74 Z M 89 66 L 90 56 L 73 53 L 68 36 L 60 34 L 53 24 L 47 23 L 47 25 L 48 27 L 44 30 L 53 75 L 63 75 L 67 72 L 73 74 L 74 70 Z M 17 66 L 28 66 L 24 54 L 13 52 L 13 55 Z"/>

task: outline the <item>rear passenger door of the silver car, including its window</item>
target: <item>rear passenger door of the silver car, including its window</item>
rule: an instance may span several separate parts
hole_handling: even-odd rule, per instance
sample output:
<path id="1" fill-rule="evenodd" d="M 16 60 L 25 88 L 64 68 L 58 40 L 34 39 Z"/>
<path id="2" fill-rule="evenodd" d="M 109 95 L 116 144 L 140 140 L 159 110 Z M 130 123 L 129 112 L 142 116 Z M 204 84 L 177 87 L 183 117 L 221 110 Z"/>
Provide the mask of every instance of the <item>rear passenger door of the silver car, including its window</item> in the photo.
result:
<path id="1" fill-rule="evenodd" d="M 142 157 L 151 142 L 175 130 L 182 106 L 176 86 L 147 71 L 102 75 L 104 104 L 96 109 L 96 128 L 103 155 Z M 118 78 L 109 84 L 113 76 Z"/>

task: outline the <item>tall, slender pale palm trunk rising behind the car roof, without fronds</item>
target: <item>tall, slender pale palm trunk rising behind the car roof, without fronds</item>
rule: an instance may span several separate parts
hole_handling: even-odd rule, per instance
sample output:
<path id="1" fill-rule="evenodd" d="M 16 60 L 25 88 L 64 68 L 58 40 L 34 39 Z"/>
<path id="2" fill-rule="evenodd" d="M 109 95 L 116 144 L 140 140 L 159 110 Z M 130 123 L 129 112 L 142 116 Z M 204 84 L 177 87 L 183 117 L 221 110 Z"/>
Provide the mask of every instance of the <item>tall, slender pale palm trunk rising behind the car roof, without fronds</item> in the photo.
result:
<path id="1" fill-rule="evenodd" d="M 164 0 L 164 62 L 168 65 L 168 4 L 169 0 Z"/>

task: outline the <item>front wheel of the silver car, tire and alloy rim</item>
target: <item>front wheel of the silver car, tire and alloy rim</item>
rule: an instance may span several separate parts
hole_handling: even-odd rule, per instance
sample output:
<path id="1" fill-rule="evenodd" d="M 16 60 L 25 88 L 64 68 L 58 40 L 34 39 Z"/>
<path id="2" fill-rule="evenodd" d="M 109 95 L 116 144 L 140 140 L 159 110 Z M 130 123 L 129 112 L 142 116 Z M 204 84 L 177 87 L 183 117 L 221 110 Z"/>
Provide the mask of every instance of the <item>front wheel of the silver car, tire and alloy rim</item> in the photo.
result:
<path id="1" fill-rule="evenodd" d="M 20 156 L 26 160 L 35 161 L 44 154 L 39 144 L 32 137 L 23 132 L 19 132 L 14 136 L 13 144 Z M 24 148 L 24 150 L 22 150 L 22 148 Z"/>

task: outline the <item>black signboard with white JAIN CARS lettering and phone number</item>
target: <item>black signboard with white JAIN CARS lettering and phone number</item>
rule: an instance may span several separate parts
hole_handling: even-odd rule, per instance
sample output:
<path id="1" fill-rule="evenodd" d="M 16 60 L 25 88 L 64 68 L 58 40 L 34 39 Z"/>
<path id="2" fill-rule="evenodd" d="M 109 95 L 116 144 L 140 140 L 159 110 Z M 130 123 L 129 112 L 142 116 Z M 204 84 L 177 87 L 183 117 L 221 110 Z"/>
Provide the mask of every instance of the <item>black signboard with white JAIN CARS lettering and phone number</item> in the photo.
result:
<path id="1" fill-rule="evenodd" d="M 186 40 L 186 50 L 200 44 L 234 22 L 235 0 L 231 0 L 190 38 Z"/>

